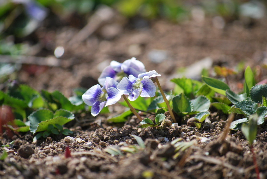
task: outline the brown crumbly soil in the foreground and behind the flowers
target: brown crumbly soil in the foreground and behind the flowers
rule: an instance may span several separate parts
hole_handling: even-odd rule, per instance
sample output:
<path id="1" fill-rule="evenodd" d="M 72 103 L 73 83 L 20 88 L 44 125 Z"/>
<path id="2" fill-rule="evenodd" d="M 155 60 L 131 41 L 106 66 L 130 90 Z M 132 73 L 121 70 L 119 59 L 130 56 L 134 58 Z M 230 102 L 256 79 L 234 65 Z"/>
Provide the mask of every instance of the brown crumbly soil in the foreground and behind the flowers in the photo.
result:
<path id="1" fill-rule="evenodd" d="M 116 15 L 86 40 L 72 45 L 69 40 L 78 33 L 78 27 L 44 25 L 32 35 L 40 45 L 32 55 L 53 55 L 52 49 L 62 46 L 65 49 L 60 58 L 62 66 L 32 73 L 29 66 L 33 66 L 23 65 L 18 81 L 37 90 L 59 90 L 65 96 L 71 96 L 73 88 L 97 84 L 101 70 L 111 60 L 123 62 L 135 56 L 147 70 L 162 74 L 160 83 L 165 90 L 170 90 L 173 86 L 166 81 L 177 74 L 178 68 L 188 67 L 203 58 L 210 57 L 213 65 L 231 68 L 242 61 L 245 66 L 252 67 L 264 63 L 265 21 L 226 21 L 223 29 L 216 28 L 212 22 L 211 18 L 180 24 L 140 18 L 127 22 Z M 110 32 L 107 29 L 115 30 L 105 33 Z M 161 50 L 167 58 L 160 62 L 153 60 L 149 55 L 153 50 Z M 40 67 L 34 66 L 34 69 L 38 71 Z M 237 83 L 244 80 L 240 74 L 230 77 L 234 90 L 240 90 Z M 265 75 L 262 71 L 257 80 L 266 78 Z M 111 107 L 112 113 L 117 110 L 116 105 Z M 72 135 L 51 135 L 35 142 L 30 132 L 12 137 L 5 132 L 0 144 L 15 142 L 10 147 L 0 147 L 1 153 L 3 150 L 8 152 L 8 157 L 0 161 L 0 178 L 257 178 L 253 155 L 244 135 L 241 131 L 225 130 L 229 121 L 227 115 L 211 111 L 200 129 L 187 125 L 187 119 L 172 124 L 168 113 L 166 116 L 157 128 L 138 128 L 136 116 L 125 123 L 111 124 L 104 115 L 76 114 L 76 120 L 65 125 L 74 132 Z M 235 119 L 239 119 L 238 116 Z M 133 154 L 110 155 L 106 152 L 110 147 L 138 146 L 131 135 L 141 137 L 145 148 L 136 147 Z M 188 147 L 178 150 L 171 144 L 177 138 Z M 253 147 L 260 177 L 266 178 L 266 124 L 258 127 Z"/>

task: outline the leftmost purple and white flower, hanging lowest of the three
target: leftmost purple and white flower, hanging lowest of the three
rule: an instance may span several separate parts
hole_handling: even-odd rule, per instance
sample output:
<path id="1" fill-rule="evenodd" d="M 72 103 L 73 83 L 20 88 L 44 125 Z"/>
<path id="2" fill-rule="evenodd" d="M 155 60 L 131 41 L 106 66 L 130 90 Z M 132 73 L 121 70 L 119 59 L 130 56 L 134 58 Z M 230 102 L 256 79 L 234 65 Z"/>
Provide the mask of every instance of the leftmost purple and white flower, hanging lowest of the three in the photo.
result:
<path id="1" fill-rule="evenodd" d="M 88 106 L 92 106 L 91 114 L 96 116 L 106 106 L 115 104 L 121 98 L 121 93 L 116 88 L 118 82 L 113 78 L 107 77 L 103 84 L 94 85 L 87 90 L 82 96 L 83 101 Z"/>

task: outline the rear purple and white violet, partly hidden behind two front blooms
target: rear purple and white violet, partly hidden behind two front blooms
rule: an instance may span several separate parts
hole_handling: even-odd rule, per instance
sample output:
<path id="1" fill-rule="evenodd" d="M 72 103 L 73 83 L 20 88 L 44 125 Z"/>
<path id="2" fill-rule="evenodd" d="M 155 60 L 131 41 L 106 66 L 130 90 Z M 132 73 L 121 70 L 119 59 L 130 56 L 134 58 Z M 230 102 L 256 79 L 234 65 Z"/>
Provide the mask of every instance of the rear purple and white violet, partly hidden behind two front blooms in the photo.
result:
<path id="1" fill-rule="evenodd" d="M 123 63 L 113 60 L 109 66 L 104 68 L 103 72 L 98 78 L 98 82 L 100 85 L 104 85 L 106 77 L 111 77 L 115 81 L 120 82 L 123 77 L 133 75 L 137 78 L 140 73 L 144 72 L 146 72 L 144 64 L 139 60 L 136 60 L 134 57 L 125 60 Z"/>

